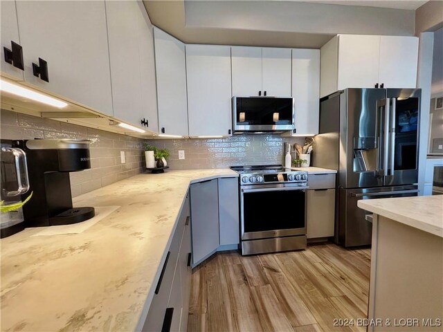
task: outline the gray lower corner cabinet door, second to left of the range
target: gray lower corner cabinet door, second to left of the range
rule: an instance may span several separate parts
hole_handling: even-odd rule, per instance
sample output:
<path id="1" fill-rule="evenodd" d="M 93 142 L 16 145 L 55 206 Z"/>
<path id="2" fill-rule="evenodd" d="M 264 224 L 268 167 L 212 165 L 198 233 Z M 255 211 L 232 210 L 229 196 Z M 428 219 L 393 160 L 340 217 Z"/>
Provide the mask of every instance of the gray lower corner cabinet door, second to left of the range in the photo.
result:
<path id="1" fill-rule="evenodd" d="M 191 185 L 192 264 L 213 254 L 219 246 L 217 179 Z"/>

